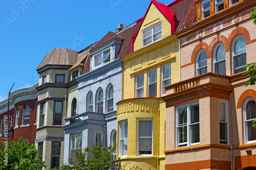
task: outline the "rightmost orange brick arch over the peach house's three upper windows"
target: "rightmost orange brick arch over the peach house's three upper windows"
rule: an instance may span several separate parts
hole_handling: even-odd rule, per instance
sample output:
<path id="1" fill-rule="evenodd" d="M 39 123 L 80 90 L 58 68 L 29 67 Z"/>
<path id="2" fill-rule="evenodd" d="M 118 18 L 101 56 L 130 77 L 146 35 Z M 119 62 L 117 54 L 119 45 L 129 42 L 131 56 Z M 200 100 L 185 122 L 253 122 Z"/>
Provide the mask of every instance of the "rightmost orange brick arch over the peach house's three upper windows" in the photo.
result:
<path id="1" fill-rule="evenodd" d="M 231 47 L 233 38 L 236 37 L 238 34 L 243 34 L 243 36 L 245 37 L 246 45 L 251 43 L 251 37 L 248 30 L 244 27 L 237 27 L 230 33 L 228 37 L 228 47 Z"/>

